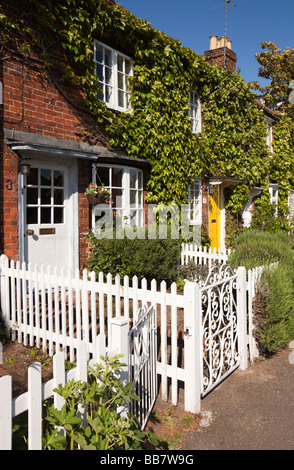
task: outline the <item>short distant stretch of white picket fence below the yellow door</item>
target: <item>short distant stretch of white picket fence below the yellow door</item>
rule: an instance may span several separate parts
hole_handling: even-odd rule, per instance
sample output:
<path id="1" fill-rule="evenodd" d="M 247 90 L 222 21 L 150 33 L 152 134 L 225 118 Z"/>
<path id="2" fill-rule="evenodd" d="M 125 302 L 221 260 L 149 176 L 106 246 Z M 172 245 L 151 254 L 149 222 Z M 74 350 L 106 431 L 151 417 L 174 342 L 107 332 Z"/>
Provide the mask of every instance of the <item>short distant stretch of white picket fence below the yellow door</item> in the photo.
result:
<path id="1" fill-rule="evenodd" d="M 199 266 L 208 266 L 210 269 L 215 264 L 226 264 L 230 254 L 230 249 L 222 252 L 220 249 L 216 250 L 216 248 L 183 243 L 181 247 L 181 264 L 186 265 L 189 261 L 193 261 Z"/>

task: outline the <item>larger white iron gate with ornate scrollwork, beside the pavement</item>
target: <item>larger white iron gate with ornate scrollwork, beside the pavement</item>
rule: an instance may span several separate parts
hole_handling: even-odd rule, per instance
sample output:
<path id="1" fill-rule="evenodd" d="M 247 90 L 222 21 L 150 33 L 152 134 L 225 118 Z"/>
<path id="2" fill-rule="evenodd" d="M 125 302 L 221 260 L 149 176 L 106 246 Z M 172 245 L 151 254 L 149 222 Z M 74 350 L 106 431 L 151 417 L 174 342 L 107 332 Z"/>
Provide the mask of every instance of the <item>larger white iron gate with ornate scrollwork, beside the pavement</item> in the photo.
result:
<path id="1" fill-rule="evenodd" d="M 203 360 L 201 394 L 207 395 L 240 365 L 237 273 L 215 266 L 201 288 Z"/>

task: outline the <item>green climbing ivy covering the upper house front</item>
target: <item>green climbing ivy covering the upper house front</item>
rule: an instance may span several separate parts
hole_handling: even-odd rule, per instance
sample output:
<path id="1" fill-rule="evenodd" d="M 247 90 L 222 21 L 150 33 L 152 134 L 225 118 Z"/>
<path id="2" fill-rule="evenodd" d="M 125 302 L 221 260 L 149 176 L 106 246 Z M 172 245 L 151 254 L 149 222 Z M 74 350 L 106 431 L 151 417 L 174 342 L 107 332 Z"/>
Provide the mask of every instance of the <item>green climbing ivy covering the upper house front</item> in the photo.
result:
<path id="1" fill-rule="evenodd" d="M 65 97 L 66 84 L 79 90 L 74 104 L 89 112 L 113 148 L 151 162 L 147 201 L 187 202 L 188 184 L 210 175 L 242 180 L 228 201 L 234 210 L 243 205 L 250 186 L 266 188 L 270 176 L 286 194 L 292 182 L 293 124 L 281 120 L 276 126 L 275 154 L 270 155 L 263 112 L 239 72 L 207 64 L 180 41 L 111 1 L 13 4 L 11 9 L 2 2 L 2 47 L 28 63 L 32 57 L 41 59 L 43 78 L 53 80 Z M 133 58 L 131 113 L 112 112 L 98 99 L 94 38 L 119 44 Z M 202 102 L 200 134 L 192 133 L 188 120 L 190 90 Z M 281 163 L 285 156 L 286 167 Z"/>

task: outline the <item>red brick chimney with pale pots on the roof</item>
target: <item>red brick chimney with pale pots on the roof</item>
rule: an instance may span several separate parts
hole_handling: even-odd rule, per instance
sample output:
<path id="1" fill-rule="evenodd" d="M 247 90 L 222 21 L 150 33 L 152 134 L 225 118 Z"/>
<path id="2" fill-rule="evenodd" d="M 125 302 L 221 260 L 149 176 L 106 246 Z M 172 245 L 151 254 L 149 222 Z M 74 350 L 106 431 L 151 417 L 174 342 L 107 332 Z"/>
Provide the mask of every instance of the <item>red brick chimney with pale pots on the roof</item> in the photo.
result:
<path id="1" fill-rule="evenodd" d="M 219 39 L 216 34 L 210 36 L 210 48 L 204 52 L 204 58 L 209 64 L 236 72 L 237 56 L 232 51 L 232 42 L 225 36 Z"/>

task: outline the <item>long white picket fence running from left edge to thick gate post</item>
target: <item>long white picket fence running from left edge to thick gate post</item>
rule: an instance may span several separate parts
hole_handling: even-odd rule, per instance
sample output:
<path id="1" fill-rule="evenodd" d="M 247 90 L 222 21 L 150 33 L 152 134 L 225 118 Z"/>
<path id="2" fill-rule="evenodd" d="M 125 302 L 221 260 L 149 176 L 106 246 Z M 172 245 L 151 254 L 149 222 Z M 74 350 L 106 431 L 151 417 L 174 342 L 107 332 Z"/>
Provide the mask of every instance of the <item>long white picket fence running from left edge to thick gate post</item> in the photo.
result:
<path id="1" fill-rule="evenodd" d="M 157 373 L 161 396 L 167 400 L 171 381 L 172 402 L 177 405 L 178 381 L 190 380 L 189 360 L 184 358 L 184 327 L 192 314 L 190 299 L 196 285 L 192 291 L 187 286 L 179 293 L 176 284 L 167 289 L 164 281 L 157 286 L 153 280 L 148 287 L 145 279 L 139 283 L 136 276 L 113 279 L 100 273 L 96 281 L 95 274 L 86 270 L 82 276 L 78 271 L 58 271 L 50 266 L 45 270 L 14 263 L 4 255 L 0 269 L 2 317 L 12 338 L 42 348 L 50 356 L 63 350 L 70 361 L 75 360 L 80 340 L 87 343 L 90 357 L 96 357 L 99 334 L 105 335 L 107 349 L 113 349 L 111 320 L 123 317 L 136 322 L 140 308 L 154 306 L 160 331 Z"/>

